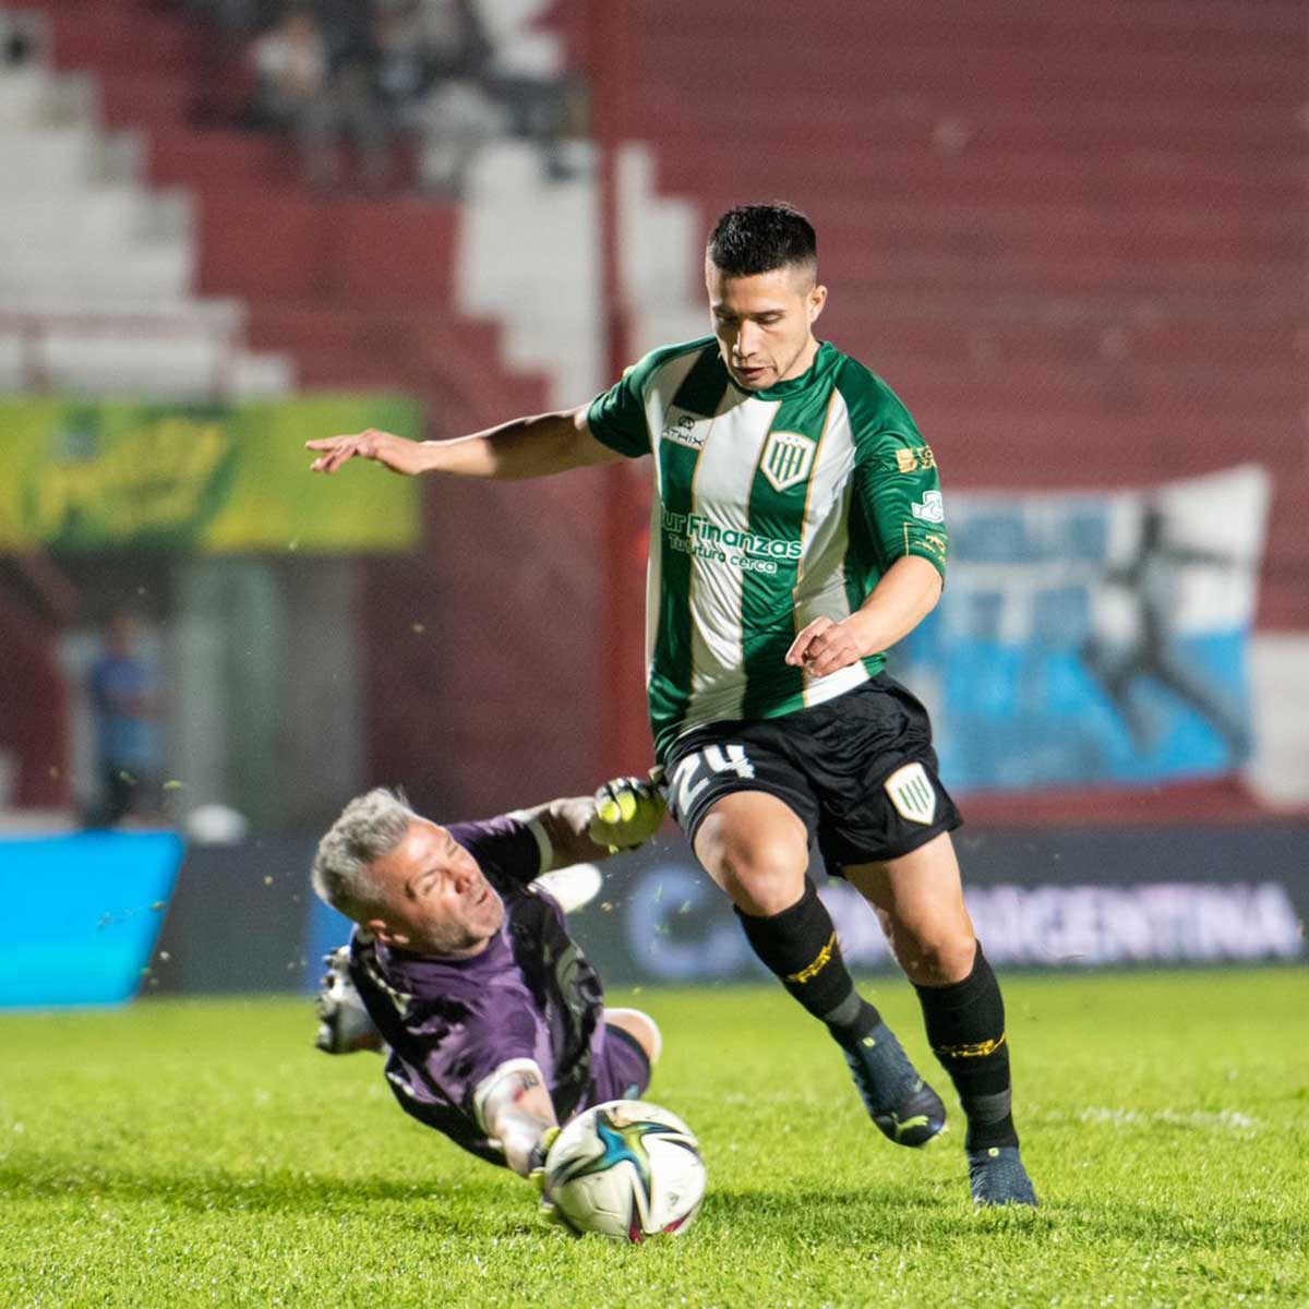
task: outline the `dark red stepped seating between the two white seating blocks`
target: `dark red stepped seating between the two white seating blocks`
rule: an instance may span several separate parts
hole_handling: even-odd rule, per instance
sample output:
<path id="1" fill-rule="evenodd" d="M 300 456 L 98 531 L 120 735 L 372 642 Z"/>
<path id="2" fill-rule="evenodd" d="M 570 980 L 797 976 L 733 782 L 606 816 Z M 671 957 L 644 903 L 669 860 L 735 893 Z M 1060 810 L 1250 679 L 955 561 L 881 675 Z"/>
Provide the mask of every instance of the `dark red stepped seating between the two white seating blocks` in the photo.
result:
<path id="1" fill-rule="evenodd" d="M 198 126 L 203 37 L 177 12 L 151 0 L 47 0 L 42 12 L 58 67 L 93 75 L 151 182 L 188 198 L 194 266 L 152 266 L 151 284 L 185 271 L 206 296 L 237 300 L 250 344 L 293 359 L 300 385 L 421 395 L 436 432 L 542 406 L 539 377 L 497 367 L 495 327 L 452 306 L 456 206 L 314 195 L 288 144 Z M 524 59 L 548 58 L 548 42 Z"/>

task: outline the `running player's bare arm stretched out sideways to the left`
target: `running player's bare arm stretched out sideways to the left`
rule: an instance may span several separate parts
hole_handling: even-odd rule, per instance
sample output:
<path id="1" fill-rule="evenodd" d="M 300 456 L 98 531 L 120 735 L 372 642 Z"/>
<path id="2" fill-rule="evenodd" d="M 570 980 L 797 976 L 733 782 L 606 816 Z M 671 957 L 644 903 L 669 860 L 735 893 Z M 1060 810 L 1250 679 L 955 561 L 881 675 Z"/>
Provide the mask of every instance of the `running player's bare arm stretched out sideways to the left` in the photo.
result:
<path id="1" fill-rule="evenodd" d="M 393 473 L 440 473 L 459 478 L 543 478 L 569 469 L 617 463 L 622 456 L 601 445 L 586 427 L 586 406 L 520 418 L 450 441 L 411 441 L 372 428 L 353 436 L 305 442 L 318 456 L 313 473 L 335 473 L 351 459 L 369 459 Z"/>

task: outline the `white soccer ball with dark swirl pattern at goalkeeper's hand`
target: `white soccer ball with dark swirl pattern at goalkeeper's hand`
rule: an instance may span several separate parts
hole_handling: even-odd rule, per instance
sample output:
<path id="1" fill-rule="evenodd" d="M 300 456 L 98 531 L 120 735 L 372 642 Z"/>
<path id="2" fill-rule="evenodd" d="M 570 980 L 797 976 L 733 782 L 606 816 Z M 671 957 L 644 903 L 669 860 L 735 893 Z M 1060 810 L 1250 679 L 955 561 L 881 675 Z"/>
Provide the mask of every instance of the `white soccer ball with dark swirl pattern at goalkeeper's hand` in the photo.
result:
<path id="1" fill-rule="evenodd" d="M 644 1100 L 611 1100 L 555 1139 L 546 1195 L 577 1232 L 632 1242 L 679 1236 L 704 1196 L 704 1161 L 677 1114 Z"/>

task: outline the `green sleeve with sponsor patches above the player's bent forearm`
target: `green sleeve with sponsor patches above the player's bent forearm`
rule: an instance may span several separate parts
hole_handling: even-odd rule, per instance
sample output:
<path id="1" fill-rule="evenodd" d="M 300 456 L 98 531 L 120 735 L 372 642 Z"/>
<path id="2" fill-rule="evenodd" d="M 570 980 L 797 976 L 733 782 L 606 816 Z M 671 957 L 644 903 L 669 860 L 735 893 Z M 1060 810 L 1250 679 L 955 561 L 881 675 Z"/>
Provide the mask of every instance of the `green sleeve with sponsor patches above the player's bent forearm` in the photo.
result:
<path id="1" fill-rule="evenodd" d="M 884 568 L 919 555 L 945 576 L 949 533 L 936 452 L 899 397 L 852 359 L 836 381 L 855 444 L 853 488 Z"/>

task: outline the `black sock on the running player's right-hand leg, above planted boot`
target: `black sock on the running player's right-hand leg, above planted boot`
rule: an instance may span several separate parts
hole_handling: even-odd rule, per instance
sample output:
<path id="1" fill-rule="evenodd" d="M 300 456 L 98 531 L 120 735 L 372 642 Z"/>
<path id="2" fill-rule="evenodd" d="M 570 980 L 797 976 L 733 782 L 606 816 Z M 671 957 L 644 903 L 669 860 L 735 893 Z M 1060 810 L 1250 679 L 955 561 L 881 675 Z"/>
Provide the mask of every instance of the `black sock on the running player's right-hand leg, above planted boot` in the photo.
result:
<path id="1" fill-rule="evenodd" d="M 927 1039 L 950 1075 L 969 1121 L 967 1149 L 1017 1145 L 1009 1094 L 1009 1043 L 1000 984 L 978 944 L 973 971 L 952 986 L 915 986 Z"/>

